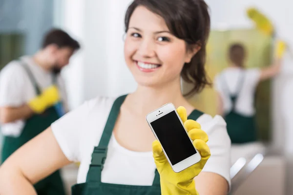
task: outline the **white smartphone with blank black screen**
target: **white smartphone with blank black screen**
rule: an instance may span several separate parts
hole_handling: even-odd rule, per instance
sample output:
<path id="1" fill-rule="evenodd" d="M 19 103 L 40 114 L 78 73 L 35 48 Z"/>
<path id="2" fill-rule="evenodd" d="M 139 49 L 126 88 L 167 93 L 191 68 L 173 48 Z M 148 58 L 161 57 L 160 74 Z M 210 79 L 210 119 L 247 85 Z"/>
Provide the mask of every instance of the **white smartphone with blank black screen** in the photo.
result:
<path id="1" fill-rule="evenodd" d="M 201 156 L 172 103 L 167 103 L 146 115 L 153 134 L 160 141 L 163 152 L 174 172 L 178 173 L 200 161 Z"/>

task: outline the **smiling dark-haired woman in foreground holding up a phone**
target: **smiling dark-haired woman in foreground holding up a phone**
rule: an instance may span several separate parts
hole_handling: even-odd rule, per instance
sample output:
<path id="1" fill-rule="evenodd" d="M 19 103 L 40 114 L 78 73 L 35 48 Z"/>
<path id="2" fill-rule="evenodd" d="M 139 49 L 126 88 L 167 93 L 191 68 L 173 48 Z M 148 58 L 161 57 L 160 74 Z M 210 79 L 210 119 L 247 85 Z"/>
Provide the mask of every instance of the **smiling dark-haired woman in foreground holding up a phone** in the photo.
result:
<path id="1" fill-rule="evenodd" d="M 34 194 L 32 183 L 73 161 L 81 162 L 73 195 L 227 195 L 230 138 L 226 123 L 190 105 L 180 83 L 181 77 L 193 83 L 190 93 L 208 84 L 204 68 L 207 4 L 204 0 L 134 0 L 125 24 L 124 54 L 137 89 L 118 98 L 87 101 L 21 147 L 0 167 L 1 195 Z M 180 107 L 180 116 L 201 154 L 196 166 L 178 174 L 160 160 L 166 157 L 146 122 L 148 113 L 168 102 L 185 108 Z M 164 134 L 169 136 L 167 131 Z"/>

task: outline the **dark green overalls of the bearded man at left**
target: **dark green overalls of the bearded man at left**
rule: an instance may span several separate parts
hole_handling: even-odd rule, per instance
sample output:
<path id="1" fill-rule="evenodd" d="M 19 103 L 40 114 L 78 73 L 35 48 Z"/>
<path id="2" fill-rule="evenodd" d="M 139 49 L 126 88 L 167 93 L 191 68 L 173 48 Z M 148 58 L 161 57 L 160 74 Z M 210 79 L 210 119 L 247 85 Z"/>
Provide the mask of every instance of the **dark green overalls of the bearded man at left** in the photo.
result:
<path id="1" fill-rule="evenodd" d="M 22 63 L 28 76 L 30 77 L 37 95 L 41 94 L 41 90 L 37 85 L 35 78 L 33 77 L 30 69 L 26 64 Z M 54 79 L 55 80 L 55 79 Z M 25 121 L 24 128 L 22 129 L 19 137 L 4 136 L 3 148 L 2 148 L 2 161 L 6 160 L 12 153 L 19 149 L 23 144 L 42 133 L 48 128 L 54 121 L 59 118 L 54 107 L 48 108 L 44 113 L 28 118 Z M 60 175 L 60 171 L 54 172 L 52 175 L 44 178 L 40 182 L 34 185 L 38 195 L 65 195 L 63 187 L 63 181 Z"/>

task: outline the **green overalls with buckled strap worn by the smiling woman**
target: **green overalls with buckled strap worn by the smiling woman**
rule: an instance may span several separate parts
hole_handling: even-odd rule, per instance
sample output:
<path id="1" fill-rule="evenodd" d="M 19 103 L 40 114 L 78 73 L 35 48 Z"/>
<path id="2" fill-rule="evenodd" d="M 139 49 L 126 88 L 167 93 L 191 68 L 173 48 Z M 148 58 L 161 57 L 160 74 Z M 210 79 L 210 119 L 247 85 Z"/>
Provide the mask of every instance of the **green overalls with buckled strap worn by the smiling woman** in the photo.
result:
<path id="1" fill-rule="evenodd" d="M 155 177 L 152 186 L 131 186 L 101 182 L 101 173 L 107 156 L 107 146 L 120 107 L 125 98 L 126 95 L 121 96 L 114 101 L 100 143 L 94 148 L 92 153 L 86 182 L 72 186 L 72 195 L 161 195 L 160 175 L 157 170 L 155 170 Z M 188 119 L 196 120 L 202 114 L 203 113 L 200 111 L 194 110 L 188 116 Z"/>

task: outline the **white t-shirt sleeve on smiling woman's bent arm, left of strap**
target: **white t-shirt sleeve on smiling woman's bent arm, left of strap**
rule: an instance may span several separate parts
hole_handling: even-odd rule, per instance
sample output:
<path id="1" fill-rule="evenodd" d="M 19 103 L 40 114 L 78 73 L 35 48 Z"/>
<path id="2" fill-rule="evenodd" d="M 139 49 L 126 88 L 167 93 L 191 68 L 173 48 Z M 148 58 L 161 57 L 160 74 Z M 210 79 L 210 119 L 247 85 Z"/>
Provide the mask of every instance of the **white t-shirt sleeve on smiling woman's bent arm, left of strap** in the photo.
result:
<path id="1" fill-rule="evenodd" d="M 102 96 L 86 100 L 52 123 L 52 132 L 69 160 L 81 161 L 90 156 L 86 151 L 99 143 L 114 100 Z"/>

